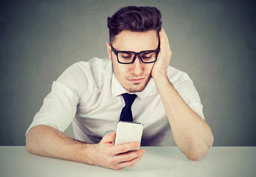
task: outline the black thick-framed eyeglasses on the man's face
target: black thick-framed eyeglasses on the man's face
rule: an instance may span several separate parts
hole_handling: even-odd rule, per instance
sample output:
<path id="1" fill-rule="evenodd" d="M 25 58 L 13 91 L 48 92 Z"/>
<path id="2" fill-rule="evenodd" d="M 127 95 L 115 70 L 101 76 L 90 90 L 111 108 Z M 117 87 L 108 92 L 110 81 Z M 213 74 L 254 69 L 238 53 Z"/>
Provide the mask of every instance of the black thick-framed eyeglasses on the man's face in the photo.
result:
<path id="1" fill-rule="evenodd" d="M 160 49 L 160 43 L 156 50 L 145 50 L 141 52 L 131 52 L 131 51 L 116 51 L 112 44 L 110 44 L 112 51 L 116 55 L 118 63 L 121 64 L 131 64 L 135 61 L 137 55 L 139 55 L 140 61 L 143 63 L 154 63 L 157 61 L 157 55 Z"/>

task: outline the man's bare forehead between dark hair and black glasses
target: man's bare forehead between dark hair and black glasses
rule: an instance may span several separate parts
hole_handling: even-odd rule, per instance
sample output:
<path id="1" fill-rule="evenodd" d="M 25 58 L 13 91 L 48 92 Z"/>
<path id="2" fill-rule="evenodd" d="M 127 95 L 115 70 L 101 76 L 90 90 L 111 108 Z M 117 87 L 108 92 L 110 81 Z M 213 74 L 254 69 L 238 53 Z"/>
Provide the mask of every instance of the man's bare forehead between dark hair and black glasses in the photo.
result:
<path id="1" fill-rule="evenodd" d="M 118 51 L 140 52 L 155 50 L 158 46 L 158 37 L 154 30 L 148 32 L 122 31 L 116 35 L 113 47 Z"/>

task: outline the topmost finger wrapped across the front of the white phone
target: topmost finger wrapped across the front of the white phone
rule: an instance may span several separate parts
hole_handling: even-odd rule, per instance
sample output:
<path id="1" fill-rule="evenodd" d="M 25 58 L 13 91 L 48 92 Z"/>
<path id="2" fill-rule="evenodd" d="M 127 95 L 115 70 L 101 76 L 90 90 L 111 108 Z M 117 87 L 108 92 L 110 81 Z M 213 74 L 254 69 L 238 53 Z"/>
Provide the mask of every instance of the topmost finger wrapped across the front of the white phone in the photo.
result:
<path id="1" fill-rule="evenodd" d="M 138 144 L 138 145 L 137 145 Z M 140 147 L 140 142 L 130 142 L 122 145 L 115 145 L 110 148 L 109 155 L 124 153 Z"/>

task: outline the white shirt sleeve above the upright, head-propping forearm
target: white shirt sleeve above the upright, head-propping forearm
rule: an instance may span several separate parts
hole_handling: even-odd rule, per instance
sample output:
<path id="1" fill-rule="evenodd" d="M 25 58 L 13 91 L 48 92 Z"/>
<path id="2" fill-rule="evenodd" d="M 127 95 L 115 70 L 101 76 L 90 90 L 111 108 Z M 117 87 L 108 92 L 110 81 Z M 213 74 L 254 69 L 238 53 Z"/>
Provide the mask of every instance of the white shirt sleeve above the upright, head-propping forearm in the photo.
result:
<path id="1" fill-rule="evenodd" d="M 179 82 L 174 84 L 175 89 L 180 94 L 184 102 L 195 111 L 202 119 L 204 119 L 203 113 L 203 105 L 201 104 L 201 99 L 196 90 L 193 81 L 189 78 L 189 75 L 183 73 L 180 78 Z M 205 121 L 205 119 L 204 119 Z M 212 144 L 213 144 L 213 135 L 212 135 Z M 211 149 L 212 145 L 210 145 L 209 150 Z"/>

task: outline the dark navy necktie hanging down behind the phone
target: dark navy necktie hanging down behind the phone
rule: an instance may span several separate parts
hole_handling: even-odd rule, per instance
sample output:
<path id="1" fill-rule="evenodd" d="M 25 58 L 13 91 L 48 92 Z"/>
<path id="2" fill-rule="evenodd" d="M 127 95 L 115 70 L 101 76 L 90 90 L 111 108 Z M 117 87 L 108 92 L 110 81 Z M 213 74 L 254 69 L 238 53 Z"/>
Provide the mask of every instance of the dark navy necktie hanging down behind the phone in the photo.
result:
<path id="1" fill-rule="evenodd" d="M 124 93 L 124 94 L 122 94 L 122 96 L 125 100 L 125 107 L 122 108 L 122 112 L 121 112 L 119 121 L 133 122 L 133 117 L 132 117 L 132 113 L 131 113 L 131 105 L 133 104 L 137 95 Z"/>

